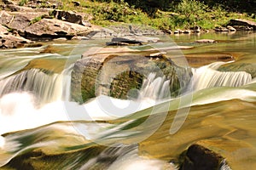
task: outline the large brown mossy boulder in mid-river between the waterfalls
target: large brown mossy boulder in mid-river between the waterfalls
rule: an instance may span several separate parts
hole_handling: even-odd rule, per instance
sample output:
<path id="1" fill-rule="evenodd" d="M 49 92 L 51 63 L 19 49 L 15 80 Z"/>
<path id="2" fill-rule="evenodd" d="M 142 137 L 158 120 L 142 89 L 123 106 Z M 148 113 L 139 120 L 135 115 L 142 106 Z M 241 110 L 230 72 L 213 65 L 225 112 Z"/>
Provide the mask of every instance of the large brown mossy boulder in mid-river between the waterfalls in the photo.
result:
<path id="1" fill-rule="evenodd" d="M 136 97 L 128 96 L 130 90 L 141 88 L 150 72 L 155 72 L 156 77 L 170 79 L 170 92 L 175 96 L 189 83 L 191 76 L 190 71 L 160 53 L 130 48 L 94 48 L 74 65 L 72 99 L 83 103 L 100 94 L 119 99 Z"/>

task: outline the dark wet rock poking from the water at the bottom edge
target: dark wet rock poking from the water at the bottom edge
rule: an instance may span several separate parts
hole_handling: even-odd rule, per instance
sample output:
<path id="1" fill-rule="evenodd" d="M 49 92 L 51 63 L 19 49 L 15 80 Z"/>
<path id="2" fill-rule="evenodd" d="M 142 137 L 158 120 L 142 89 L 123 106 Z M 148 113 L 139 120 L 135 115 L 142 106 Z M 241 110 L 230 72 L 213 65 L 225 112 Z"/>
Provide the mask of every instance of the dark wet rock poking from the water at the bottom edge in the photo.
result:
<path id="1" fill-rule="evenodd" d="M 181 160 L 180 170 L 213 170 L 221 167 L 230 169 L 225 164 L 224 157 L 199 144 L 190 145 L 189 149 L 181 155 Z"/>

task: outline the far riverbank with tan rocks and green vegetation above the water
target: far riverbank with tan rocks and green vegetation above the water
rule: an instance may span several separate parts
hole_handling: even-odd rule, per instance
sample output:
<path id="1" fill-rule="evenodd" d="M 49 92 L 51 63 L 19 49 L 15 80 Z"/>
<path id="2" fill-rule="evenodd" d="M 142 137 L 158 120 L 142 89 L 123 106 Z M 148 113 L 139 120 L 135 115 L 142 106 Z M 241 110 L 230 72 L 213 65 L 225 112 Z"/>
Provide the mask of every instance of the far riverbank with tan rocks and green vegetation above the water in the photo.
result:
<path id="1" fill-rule="evenodd" d="M 0 48 L 30 47 L 34 41 L 55 39 L 65 41 L 256 29 L 253 14 L 227 12 L 220 6 L 209 8 L 205 4 L 186 0 L 179 3 L 174 12 L 158 9 L 154 14 L 143 12 L 124 1 L 3 0 L 0 6 Z"/>

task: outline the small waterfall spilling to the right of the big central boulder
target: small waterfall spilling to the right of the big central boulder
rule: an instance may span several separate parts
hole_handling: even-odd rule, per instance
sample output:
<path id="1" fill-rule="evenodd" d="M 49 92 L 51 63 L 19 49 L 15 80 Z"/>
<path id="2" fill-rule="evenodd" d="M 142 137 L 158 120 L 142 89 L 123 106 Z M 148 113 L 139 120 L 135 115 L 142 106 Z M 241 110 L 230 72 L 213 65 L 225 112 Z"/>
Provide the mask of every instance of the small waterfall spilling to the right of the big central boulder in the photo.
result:
<path id="1" fill-rule="evenodd" d="M 193 88 L 195 91 L 213 87 L 240 87 L 252 81 L 252 76 L 245 71 L 217 71 L 224 62 L 212 63 L 193 69 Z"/>

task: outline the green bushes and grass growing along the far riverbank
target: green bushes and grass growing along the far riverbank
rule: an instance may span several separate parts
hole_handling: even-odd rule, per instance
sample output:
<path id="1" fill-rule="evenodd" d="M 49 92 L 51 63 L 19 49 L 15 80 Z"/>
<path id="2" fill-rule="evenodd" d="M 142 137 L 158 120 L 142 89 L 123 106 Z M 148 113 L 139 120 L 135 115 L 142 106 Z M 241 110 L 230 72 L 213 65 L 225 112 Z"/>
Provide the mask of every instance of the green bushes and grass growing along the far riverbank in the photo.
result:
<path id="1" fill-rule="evenodd" d="M 98 26 L 131 23 L 153 26 L 161 30 L 189 29 L 194 26 L 212 29 L 216 26 L 226 26 L 229 20 L 234 18 L 255 20 L 253 13 L 238 14 L 223 8 L 222 3 L 213 3 L 210 0 L 207 3 L 196 0 L 159 0 L 157 3 L 150 3 L 149 0 L 77 0 L 79 7 L 74 6 L 72 0 L 60 1 L 59 9 L 86 13 L 91 16 L 90 22 Z"/>

